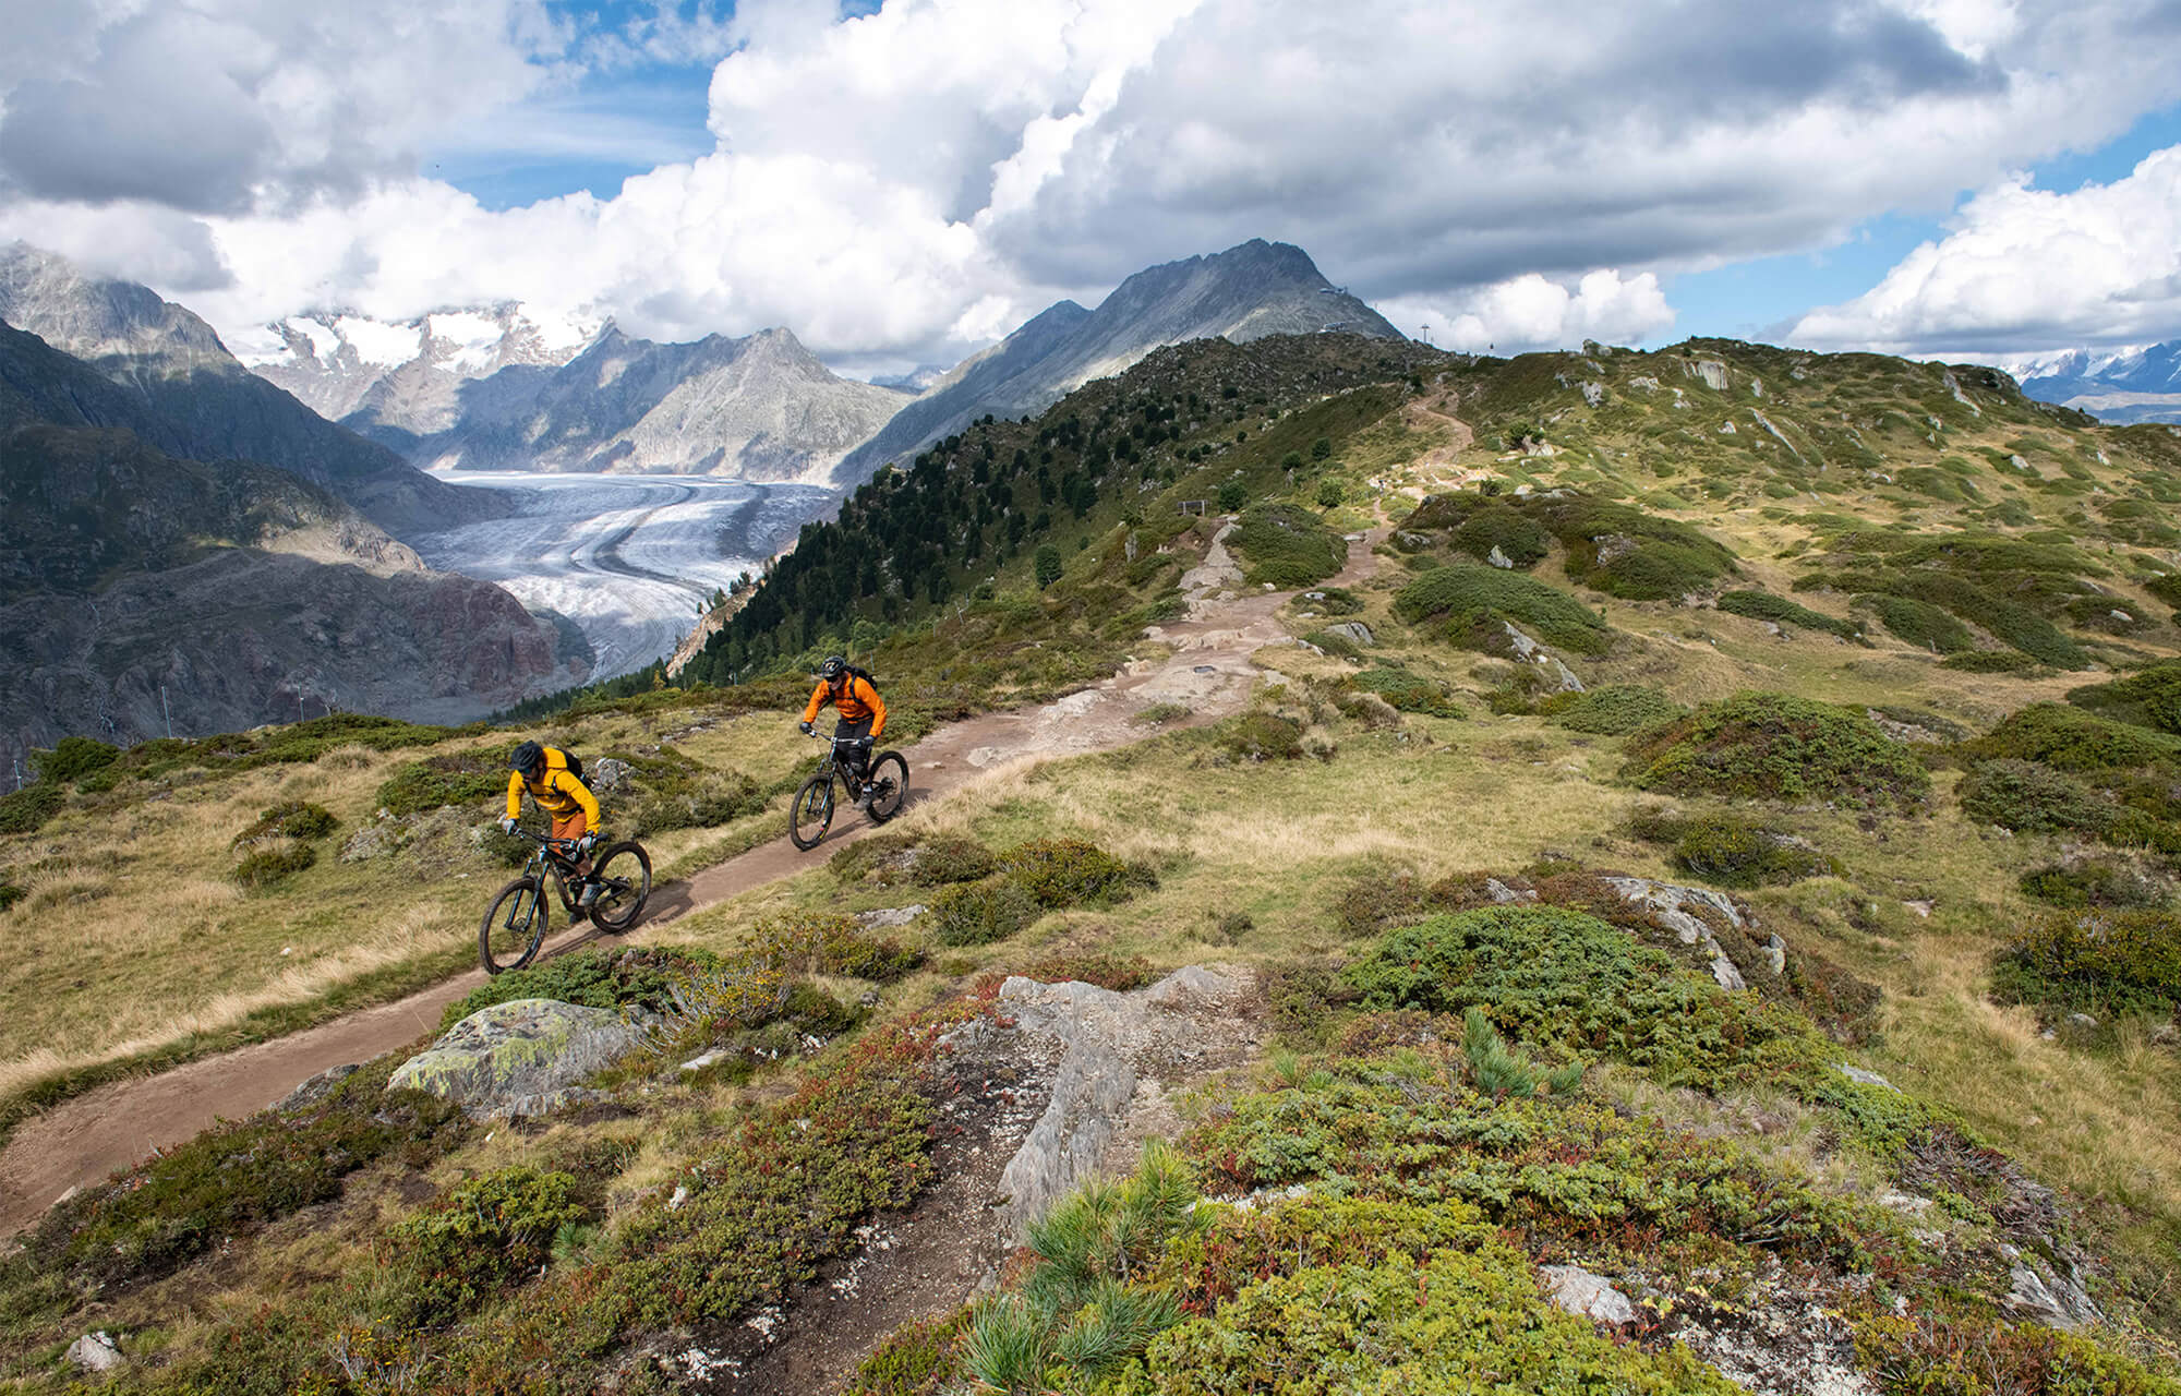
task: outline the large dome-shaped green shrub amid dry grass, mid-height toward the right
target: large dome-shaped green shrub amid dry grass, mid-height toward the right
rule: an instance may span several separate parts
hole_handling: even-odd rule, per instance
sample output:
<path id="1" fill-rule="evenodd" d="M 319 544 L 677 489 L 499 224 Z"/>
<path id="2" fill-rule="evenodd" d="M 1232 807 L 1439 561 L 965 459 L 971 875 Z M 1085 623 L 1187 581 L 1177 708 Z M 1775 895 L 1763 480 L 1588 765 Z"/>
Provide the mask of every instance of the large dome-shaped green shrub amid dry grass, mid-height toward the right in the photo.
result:
<path id="1" fill-rule="evenodd" d="M 1788 694 L 1736 694 L 1629 744 L 1638 785 L 1764 801 L 1908 805 L 1930 772 L 1858 711 Z"/>

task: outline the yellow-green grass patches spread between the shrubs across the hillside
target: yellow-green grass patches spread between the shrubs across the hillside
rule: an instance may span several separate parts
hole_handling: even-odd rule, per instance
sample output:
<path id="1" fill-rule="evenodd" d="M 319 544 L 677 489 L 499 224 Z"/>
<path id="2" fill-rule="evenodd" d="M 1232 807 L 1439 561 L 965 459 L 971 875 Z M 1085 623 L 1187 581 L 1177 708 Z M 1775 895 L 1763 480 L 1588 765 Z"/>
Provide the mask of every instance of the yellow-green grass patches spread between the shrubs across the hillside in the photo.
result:
<path id="1" fill-rule="evenodd" d="M 1701 369 L 1682 366 L 1684 358 L 1721 362 L 1727 390 L 1708 388 L 1697 377 Z M 1740 578 L 1732 585 L 1788 595 L 1804 569 L 1799 558 L 1832 537 L 1841 519 L 1915 530 L 2065 530 L 2109 567 L 2105 585 L 2144 602 L 2153 617 L 2122 639 L 2096 633 L 2078 633 L 2078 639 L 2107 646 L 2109 663 L 2126 650 L 2150 657 L 2181 648 L 2181 635 L 2164 619 L 2168 609 L 2150 606 L 2140 589 L 2155 558 L 2137 543 L 2146 539 L 2144 524 L 2129 519 L 2131 510 L 2118 510 L 2116 521 L 2113 510 L 2113 502 L 2157 500 L 2168 491 L 2177 478 L 2172 447 L 2142 430 L 2085 428 L 1963 375 L 1972 412 L 1939 373 L 1893 360 L 1697 345 L 1686 356 L 1453 364 L 1448 386 L 1459 390 L 1459 412 L 1479 434 L 1461 469 L 1492 473 L 1509 489 L 1577 484 L 1697 524 L 1738 554 Z M 1642 377 L 1660 386 L 1638 386 Z M 1762 382 L 1762 397 L 1751 380 Z M 1607 384 L 1599 408 L 1583 404 L 1581 382 Z M 1686 408 L 1673 406 L 1671 388 L 1682 388 Z M 1394 384 L 1391 397 L 1400 395 Z M 1756 425 L 1751 408 L 1780 428 L 1793 449 Z M 1732 436 L 1716 430 L 1730 419 L 1738 428 Z M 1516 423 L 1540 425 L 1555 454 L 1496 452 L 1498 434 Z M 1254 497 L 1287 493 L 1280 467 L 1287 449 L 1309 449 L 1315 436 L 1333 436 L 1333 460 L 1298 473 L 1291 500 L 1315 510 L 1317 480 L 1343 480 L 1348 504 L 1330 517 L 1337 528 L 1365 524 L 1374 497 L 1391 517 L 1407 513 L 1400 491 L 1431 484 L 1411 473 L 1411 460 L 1442 445 L 1437 434 L 1405 430 L 1394 419 L 1343 425 L 1309 417 L 1306 408 L 1287 432 L 1280 421 L 1269 430 L 1263 419 L 1252 425 L 1276 447 L 1250 458 L 1245 478 Z M 2031 462 L 2035 480 L 2007 460 L 2015 454 Z M 1943 460 L 1967 460 L 1976 473 L 1961 476 Z M 1941 500 L 1902 489 L 1904 471 L 1917 467 L 1974 480 L 1974 495 L 1956 491 L 1961 497 Z M 1200 467 L 1202 473 L 1180 476 L 1171 493 L 1208 493 L 1217 486 L 1215 476 L 1232 469 Z M 1431 473 L 1444 478 L 1439 467 Z M 1945 493 L 1943 482 L 1928 489 Z M 2007 504 L 2020 504 L 2022 513 L 1996 517 L 1993 510 Z M 1043 657 L 1045 650 L 1025 652 L 1032 637 L 1062 641 L 1093 659 L 1108 648 L 1119 652 L 1125 637 L 1104 633 L 1106 617 L 1090 609 L 1090 598 L 1112 604 L 1101 587 L 1125 567 L 1117 547 L 1123 532 L 1125 521 L 1117 517 L 1090 550 L 1071 552 L 1067 580 L 1043 606 L 1032 600 L 1027 576 L 1001 571 L 999 602 L 966 606 L 936 626 L 903 617 L 879 650 L 881 672 L 949 683 L 955 670 L 968 667 L 997 674 L 1001 691 L 1012 685 L 1038 691 L 1067 674 Z M 1029 547 L 1012 567 L 1027 569 L 1027 554 Z M 1557 853 L 1590 866 L 1673 877 L 1664 849 L 1627 833 L 1631 811 L 1664 801 L 1618 781 L 1623 739 L 1573 735 L 1535 715 L 1487 713 L 1487 700 L 1507 691 L 1511 665 L 1455 648 L 1429 624 L 1394 615 L 1394 591 L 1413 576 L 1411 567 L 1437 561 L 1453 561 L 1444 543 L 1387 558 L 1378 585 L 1361 593 L 1357 619 L 1381 641 L 1374 661 L 1394 657 L 1444 683 L 1470 713 L 1466 720 L 1407 715 L 1396 731 L 1343 718 L 1313 700 L 1306 685 L 1337 685 L 1357 665 L 1267 652 L 1265 661 L 1291 678 L 1289 696 L 1274 700 L 1276 707 L 1313 724 L 1320 746 L 1335 748 L 1330 759 L 1232 761 L 1219 733 L 1180 733 L 1108 757 L 995 772 L 918 809 L 903 831 L 973 835 L 990 846 L 1077 833 L 1156 866 L 1160 881 L 1117 905 L 1053 912 L 1010 942 L 931 947 L 933 964 L 885 988 L 883 1010 L 916 1010 L 988 966 L 1019 968 L 1053 955 L 1143 955 L 1156 966 L 1208 958 L 1261 966 L 1348 958 L 1365 938 L 1337 929 L 1343 894 L 1387 886 L 1398 872 L 1422 881 L 1472 868 L 1514 872 Z M 2057 672 L 1941 670 L 1937 657 L 1876 626 L 1869 630 L 1873 646 L 1860 648 L 1819 633 L 1778 637 L 1762 622 L 1710 609 L 1623 602 L 1573 587 L 1559 550 L 1533 576 L 1603 609 L 1616 633 L 1607 654 L 1568 657 L 1588 683 L 1644 683 L 1682 702 L 1764 687 L 1913 709 L 1985 731 L 2007 711 L 2059 698 L 2085 681 Z M 1149 580 L 1128 598 L 1156 598 L 1156 585 Z M 1847 598 L 1806 591 L 1795 600 L 1847 613 Z M 1296 630 L 1324 622 L 1300 611 L 1293 619 Z M 683 735 L 709 711 L 709 700 L 694 694 L 689 707 L 604 711 L 567 729 L 582 750 L 667 739 L 704 763 L 739 768 L 761 785 L 783 777 L 803 755 L 783 735 L 776 713 Z M 504 737 L 467 737 L 454 746 L 475 742 Z M 0 1086 L 172 1043 L 177 1030 L 231 1032 L 262 1006 L 308 1014 L 334 986 L 353 988 L 373 975 L 417 973 L 465 958 L 469 916 L 495 881 L 484 866 L 454 859 L 419 879 L 414 864 L 340 866 L 327 849 L 316 868 L 275 892 L 238 894 L 214 877 L 231 857 L 227 838 L 264 805 L 297 796 L 325 803 L 347 833 L 369 818 L 369 792 L 382 774 L 414 755 L 349 750 L 312 766 L 205 781 L 179 777 L 168 790 L 122 785 L 111 796 L 83 801 L 87 807 L 63 814 L 37 835 L 9 840 L 11 859 L 24 868 L 15 877 L 31 892 L 11 912 L 11 925 L 33 938 L 26 955 L 33 971 L 9 986 L 0 1003 L 0 1021 L 13 1034 L 13 1075 Z M 1860 1060 L 1921 1099 L 1956 1110 L 2037 1176 L 2085 1200 L 2102 1243 L 2118 1256 L 2116 1274 L 2142 1280 L 2181 1239 L 2181 1073 L 2172 1069 L 2172 1049 L 2150 1045 L 2135 1025 L 2102 1045 L 2048 1040 L 2031 1010 L 1987 1001 L 1989 955 L 2033 914 L 2015 879 L 2052 862 L 2061 844 L 2050 835 L 2004 838 L 1965 822 L 1950 798 L 1956 779 L 1952 770 L 1937 772 L 1937 792 L 1924 814 L 1858 818 L 1828 809 L 1760 809 L 1767 827 L 1808 838 L 1841 872 L 1745 896 L 1760 923 L 1778 929 L 1797 953 L 1823 955 L 1884 990 L 1882 1036 L 1858 1051 Z M 1706 801 L 1679 805 L 1708 807 Z M 1485 818 L 1448 820 L 1450 809 L 1485 811 Z M 750 827 L 770 829 L 772 820 L 774 814 L 752 816 Z M 665 835 L 654 840 L 654 857 L 700 866 L 739 846 L 739 827 Z M 733 953 L 748 944 L 750 927 L 766 914 L 861 910 L 927 896 L 916 888 L 842 883 L 814 868 L 689 916 L 672 938 Z M 1928 918 L 1911 903 L 1930 903 Z M 148 931 L 131 931 L 150 907 L 185 912 L 153 916 Z M 364 923 L 375 929 L 360 934 Z M 907 938 L 916 940 L 918 929 L 909 927 Z M 281 947 L 294 953 L 279 955 Z M 150 966 L 159 966 L 157 986 Z M 74 992 L 76 982 L 113 992 L 94 1001 Z M 168 988 L 172 984 L 183 986 L 179 995 Z M 848 999 L 864 992 L 857 982 L 820 977 L 820 984 Z M 674 1178 L 687 1158 L 715 1145 L 722 1121 L 744 1117 L 759 1099 L 744 1086 L 691 1086 L 672 1073 L 652 1086 L 639 1119 L 561 1123 L 539 1136 L 502 1134 L 489 1145 L 471 1141 L 432 1163 L 427 1180 L 445 1187 L 475 1171 L 556 1160 L 622 1139 L 628 1147 L 606 1169 L 611 1182 L 602 1206 L 613 1215 L 632 1213 L 646 1187 Z M 1749 1108 L 1797 1115 L 1775 1099 L 1708 1102 L 1658 1093 L 1640 1075 L 1610 1071 L 1590 1088 L 1703 1130 L 1732 1128 L 1736 1110 Z M 1786 1167 L 1815 1171 L 1823 1187 L 1867 1195 L 1882 1182 L 1867 1163 L 1843 1163 L 1830 1152 L 1819 1121 L 1758 1136 L 1751 1147 Z M 332 1213 L 273 1224 L 216 1276 L 183 1272 L 124 1293 L 100 1322 L 148 1331 L 146 1346 L 172 1344 L 179 1357 L 194 1359 L 209 1350 L 227 1315 L 244 1315 L 260 1296 L 279 1293 L 290 1274 L 340 1276 L 358 1267 L 382 1245 L 384 1226 L 417 1208 L 421 1193 L 408 1178 L 410 1165 L 366 1169 Z M 214 1291 L 225 1293 L 207 1298 Z M 2159 1293 L 2155 1283 L 2135 1285 L 2133 1298 L 2107 1298 L 2116 1311 L 2144 1315 L 2153 1346 L 2177 1339 L 2174 1296 Z M 183 1311 L 196 1317 L 177 1322 Z M 81 1326 L 41 1317 L 9 1346 L 9 1361 L 35 1365 Z"/>

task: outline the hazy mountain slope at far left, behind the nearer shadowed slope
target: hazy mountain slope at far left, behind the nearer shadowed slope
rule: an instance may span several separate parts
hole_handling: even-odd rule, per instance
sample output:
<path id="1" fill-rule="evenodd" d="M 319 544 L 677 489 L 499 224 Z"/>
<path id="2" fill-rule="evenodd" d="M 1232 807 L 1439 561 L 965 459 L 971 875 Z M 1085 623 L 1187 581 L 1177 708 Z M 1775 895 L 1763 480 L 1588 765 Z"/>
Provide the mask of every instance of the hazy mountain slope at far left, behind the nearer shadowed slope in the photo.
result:
<path id="1" fill-rule="evenodd" d="M 397 534 L 499 510 L 491 493 L 432 480 L 384 445 L 325 421 L 244 369 L 201 318 L 144 286 L 87 277 L 63 257 L 15 242 L 0 249 L 0 321 L 92 364 L 161 417 L 161 449 L 279 467 Z M 96 425 L 135 430 L 142 419 Z"/>

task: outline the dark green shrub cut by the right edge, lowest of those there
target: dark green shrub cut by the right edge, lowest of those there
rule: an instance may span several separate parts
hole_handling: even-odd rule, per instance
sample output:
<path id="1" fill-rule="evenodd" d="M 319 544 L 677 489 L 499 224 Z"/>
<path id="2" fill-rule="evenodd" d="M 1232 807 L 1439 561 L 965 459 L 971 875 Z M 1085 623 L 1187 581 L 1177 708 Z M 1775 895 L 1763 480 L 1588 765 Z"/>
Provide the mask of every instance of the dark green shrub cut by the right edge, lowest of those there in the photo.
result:
<path id="1" fill-rule="evenodd" d="M 2092 1014 L 2181 1012 L 2181 916 L 2172 912 L 2052 912 L 1991 968 L 2002 1003 Z"/>

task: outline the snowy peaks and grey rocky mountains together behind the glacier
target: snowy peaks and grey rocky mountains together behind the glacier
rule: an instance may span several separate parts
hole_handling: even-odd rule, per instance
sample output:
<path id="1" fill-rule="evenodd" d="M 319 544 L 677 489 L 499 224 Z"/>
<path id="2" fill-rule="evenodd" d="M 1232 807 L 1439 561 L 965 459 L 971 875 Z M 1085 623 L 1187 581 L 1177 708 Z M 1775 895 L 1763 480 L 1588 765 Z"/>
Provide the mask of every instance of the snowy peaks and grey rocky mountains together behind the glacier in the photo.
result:
<path id="1" fill-rule="evenodd" d="M 827 484 L 903 404 L 785 329 L 659 345 L 519 305 L 273 329 L 260 375 L 417 467 Z"/>

